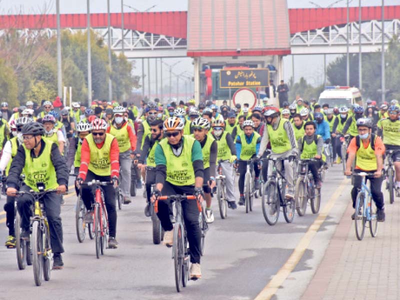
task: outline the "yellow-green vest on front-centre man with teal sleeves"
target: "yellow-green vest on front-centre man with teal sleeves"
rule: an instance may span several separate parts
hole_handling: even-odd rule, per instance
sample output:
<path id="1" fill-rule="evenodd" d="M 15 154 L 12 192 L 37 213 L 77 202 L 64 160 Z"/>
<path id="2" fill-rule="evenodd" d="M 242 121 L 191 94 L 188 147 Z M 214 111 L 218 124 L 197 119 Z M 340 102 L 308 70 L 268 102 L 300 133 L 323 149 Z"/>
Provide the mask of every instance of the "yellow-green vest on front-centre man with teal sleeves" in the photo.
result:
<path id="1" fill-rule="evenodd" d="M 159 142 L 166 160 L 166 181 L 178 186 L 193 185 L 194 168 L 191 161 L 191 149 L 195 139 L 189 135 L 184 135 L 182 138 L 183 148 L 179 156 L 173 154 L 166 138 Z"/>

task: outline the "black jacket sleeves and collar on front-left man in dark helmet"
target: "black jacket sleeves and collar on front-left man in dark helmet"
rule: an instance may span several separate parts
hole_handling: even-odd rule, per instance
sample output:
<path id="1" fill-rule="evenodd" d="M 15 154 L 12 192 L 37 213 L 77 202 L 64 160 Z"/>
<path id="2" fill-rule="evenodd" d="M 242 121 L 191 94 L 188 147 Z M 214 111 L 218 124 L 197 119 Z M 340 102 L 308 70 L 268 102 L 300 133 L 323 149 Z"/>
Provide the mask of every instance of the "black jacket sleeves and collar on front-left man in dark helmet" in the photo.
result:
<path id="1" fill-rule="evenodd" d="M 45 145 L 42 139 L 40 140 L 40 142 L 41 142 L 41 148 L 39 156 L 43 152 Z M 33 154 L 33 149 L 30 150 L 30 156 L 32 156 L 32 154 Z M 64 158 L 61 156 L 58 150 L 58 146 L 55 143 L 53 143 L 51 146 L 50 159 L 55 168 L 58 185 L 64 184 L 65 186 L 68 186 L 68 177 L 69 177 L 68 168 L 66 166 Z M 18 147 L 15 157 L 12 159 L 11 166 L 9 168 L 7 177 L 8 187 L 19 189 L 19 175 L 21 174 L 24 165 L 25 165 L 25 149 L 23 148 L 22 145 L 20 145 Z"/>

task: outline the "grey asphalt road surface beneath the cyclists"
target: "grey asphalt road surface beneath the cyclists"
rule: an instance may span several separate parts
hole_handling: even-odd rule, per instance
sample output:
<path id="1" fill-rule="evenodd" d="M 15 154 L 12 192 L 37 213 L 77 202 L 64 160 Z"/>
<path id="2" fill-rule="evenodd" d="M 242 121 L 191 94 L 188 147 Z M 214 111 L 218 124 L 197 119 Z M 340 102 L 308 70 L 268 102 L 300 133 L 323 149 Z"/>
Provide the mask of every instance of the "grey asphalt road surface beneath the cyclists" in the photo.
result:
<path id="1" fill-rule="evenodd" d="M 253 299 L 264 292 L 274 299 L 296 299 L 312 278 L 330 237 L 350 201 L 350 184 L 339 166 L 329 169 L 322 186 L 321 209 L 287 224 L 282 214 L 275 226 L 262 215 L 255 199 L 253 212 L 243 207 L 228 210 L 220 219 L 213 203 L 215 221 L 206 235 L 201 260 L 202 278 L 189 281 L 183 292 L 174 286 L 171 249 L 152 244 L 151 220 L 144 216 L 139 190 L 132 203 L 118 211 L 119 248 L 95 257 L 94 241 L 79 243 L 74 225 L 76 197 L 65 197 L 61 208 L 64 232 L 64 268 L 51 279 L 34 286 L 32 268 L 18 270 L 15 250 L 0 247 L 0 299 Z M 235 190 L 238 198 L 237 188 Z M 0 200 L 2 207 L 4 197 Z M 0 242 L 6 238 L 4 214 L 0 214 Z M 311 226 L 312 225 L 312 226 Z M 87 237 L 87 236 L 86 236 Z M 294 260 L 288 262 L 288 258 Z M 294 262 L 293 262 L 294 261 Z M 276 275 L 275 275 L 276 274 Z M 272 281 L 270 281 L 273 279 Z M 277 285 L 274 287 L 272 283 Z M 263 294 L 260 294 L 262 296 Z M 262 298 L 262 297 L 260 297 Z"/>

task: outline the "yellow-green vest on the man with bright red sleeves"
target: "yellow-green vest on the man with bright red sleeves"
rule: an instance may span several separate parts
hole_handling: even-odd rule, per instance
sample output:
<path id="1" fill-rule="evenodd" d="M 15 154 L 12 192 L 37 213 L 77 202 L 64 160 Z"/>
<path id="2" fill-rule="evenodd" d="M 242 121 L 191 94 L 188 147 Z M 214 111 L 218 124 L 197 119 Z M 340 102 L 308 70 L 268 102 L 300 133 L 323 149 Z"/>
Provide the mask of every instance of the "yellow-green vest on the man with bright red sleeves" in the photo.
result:
<path id="1" fill-rule="evenodd" d="M 90 149 L 89 170 L 99 176 L 109 176 L 111 174 L 109 150 L 114 136 L 105 133 L 104 144 L 101 148 L 97 148 L 91 133 L 86 135 L 85 139 L 87 140 Z"/>

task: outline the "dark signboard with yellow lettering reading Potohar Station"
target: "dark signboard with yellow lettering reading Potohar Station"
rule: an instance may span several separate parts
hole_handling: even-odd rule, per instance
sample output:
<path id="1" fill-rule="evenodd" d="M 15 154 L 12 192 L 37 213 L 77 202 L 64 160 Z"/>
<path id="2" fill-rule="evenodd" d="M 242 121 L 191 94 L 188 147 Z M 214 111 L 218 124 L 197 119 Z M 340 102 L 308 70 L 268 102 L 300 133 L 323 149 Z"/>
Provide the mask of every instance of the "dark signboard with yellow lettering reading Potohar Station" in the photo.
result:
<path id="1" fill-rule="evenodd" d="M 269 85 L 266 68 L 226 69 L 219 71 L 220 88 L 264 87 Z"/>

